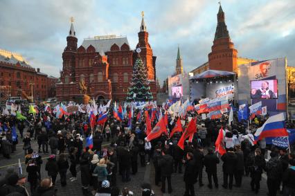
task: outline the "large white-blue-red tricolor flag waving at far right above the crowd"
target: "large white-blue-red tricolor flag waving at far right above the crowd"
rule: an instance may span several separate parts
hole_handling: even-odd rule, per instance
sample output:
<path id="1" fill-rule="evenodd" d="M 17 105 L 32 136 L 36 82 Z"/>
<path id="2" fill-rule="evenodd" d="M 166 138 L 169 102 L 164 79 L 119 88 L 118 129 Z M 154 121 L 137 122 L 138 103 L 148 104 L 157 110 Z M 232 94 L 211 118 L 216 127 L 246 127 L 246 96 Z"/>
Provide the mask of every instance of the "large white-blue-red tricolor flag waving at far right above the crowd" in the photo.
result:
<path id="1" fill-rule="evenodd" d="M 254 143 L 267 137 L 288 136 L 284 114 L 280 113 L 269 117 L 262 127 L 256 130 L 254 136 L 256 138 Z"/>

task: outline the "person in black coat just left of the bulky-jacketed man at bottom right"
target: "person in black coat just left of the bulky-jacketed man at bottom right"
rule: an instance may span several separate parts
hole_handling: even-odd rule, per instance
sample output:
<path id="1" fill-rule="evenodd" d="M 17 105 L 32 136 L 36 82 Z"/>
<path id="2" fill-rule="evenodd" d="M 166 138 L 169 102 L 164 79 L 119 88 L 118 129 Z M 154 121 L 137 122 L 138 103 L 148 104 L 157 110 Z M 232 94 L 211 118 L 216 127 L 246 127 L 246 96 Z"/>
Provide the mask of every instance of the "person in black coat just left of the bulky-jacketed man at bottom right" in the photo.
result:
<path id="1" fill-rule="evenodd" d="M 258 193 L 262 171 L 265 168 L 265 159 L 262 157 L 261 150 L 256 148 L 254 154 L 249 158 L 249 171 L 251 173 L 251 188 Z"/>

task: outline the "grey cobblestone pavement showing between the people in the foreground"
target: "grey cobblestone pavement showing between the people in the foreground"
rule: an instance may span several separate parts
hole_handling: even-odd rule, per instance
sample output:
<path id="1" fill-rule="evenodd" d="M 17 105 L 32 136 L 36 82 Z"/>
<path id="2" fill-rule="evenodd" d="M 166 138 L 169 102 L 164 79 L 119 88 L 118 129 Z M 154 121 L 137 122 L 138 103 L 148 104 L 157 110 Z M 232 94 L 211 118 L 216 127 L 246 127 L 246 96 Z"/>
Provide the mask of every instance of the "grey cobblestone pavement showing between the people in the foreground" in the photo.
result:
<path id="1" fill-rule="evenodd" d="M 32 142 L 33 149 L 37 150 L 37 141 Z M 104 143 L 106 145 L 106 143 Z M 43 158 L 43 164 L 41 169 L 41 175 L 42 177 L 47 177 L 47 172 L 45 171 L 45 164 L 46 159 L 49 154 L 43 154 L 40 153 L 40 155 Z M 17 163 L 18 159 L 21 160 L 21 162 L 24 162 L 24 150 L 22 150 L 22 142 L 19 142 L 19 145 L 17 145 L 17 151 L 14 152 L 11 156 L 11 159 L 6 159 L 0 155 L 0 174 L 5 175 L 5 172 L 8 168 L 8 166 L 15 167 L 15 170 L 17 171 Z M 24 175 L 26 175 L 26 168 L 24 166 L 24 163 L 21 164 L 22 170 Z M 81 177 L 80 177 L 80 168 L 78 166 L 78 180 L 71 182 L 69 178 L 71 177 L 71 173 L 67 172 L 67 185 L 65 187 L 60 186 L 60 176 L 57 176 L 56 180 L 56 188 L 57 188 L 57 194 L 58 195 L 82 195 L 82 189 L 81 189 Z M 183 169 L 184 170 L 184 169 Z M 235 188 L 233 187 L 233 190 L 228 190 L 222 188 L 222 161 L 218 166 L 217 169 L 217 177 L 219 180 L 220 188 L 213 188 L 209 189 L 207 187 L 208 180 L 206 172 L 203 172 L 203 183 L 205 184 L 203 187 L 199 187 L 199 184 L 195 184 L 195 193 L 196 195 L 256 195 L 255 193 L 251 192 L 251 186 L 250 186 L 250 178 L 249 177 L 243 177 L 242 181 L 242 187 L 241 188 Z M 143 181 L 151 182 L 152 188 L 155 191 L 156 195 L 175 195 L 175 196 L 181 196 L 184 195 L 184 181 L 183 181 L 183 174 L 174 173 L 172 174 L 172 193 L 171 194 L 162 194 L 160 187 L 154 186 L 154 166 L 147 165 L 145 167 L 141 167 L 138 164 L 138 173 L 136 175 L 131 175 L 131 181 L 125 183 L 121 181 L 120 175 L 117 176 L 117 185 L 120 189 L 122 188 L 129 188 L 134 192 L 134 195 L 141 195 L 141 187 L 140 184 Z M 260 192 L 257 195 L 267 195 L 267 185 L 266 185 L 266 179 L 262 178 L 262 181 L 260 182 Z M 29 185 L 26 185 L 27 189 L 29 190 Z M 91 190 L 91 189 L 90 189 Z"/>

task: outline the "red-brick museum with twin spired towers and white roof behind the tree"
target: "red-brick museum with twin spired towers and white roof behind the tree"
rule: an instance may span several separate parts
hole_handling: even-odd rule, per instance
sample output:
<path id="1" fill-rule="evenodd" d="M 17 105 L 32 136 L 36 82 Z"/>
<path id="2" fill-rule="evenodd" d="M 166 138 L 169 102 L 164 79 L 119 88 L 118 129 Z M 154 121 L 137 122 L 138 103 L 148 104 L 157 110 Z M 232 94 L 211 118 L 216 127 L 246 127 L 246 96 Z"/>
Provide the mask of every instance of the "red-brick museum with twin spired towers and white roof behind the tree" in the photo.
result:
<path id="1" fill-rule="evenodd" d="M 137 57 L 127 37 L 96 36 L 84 39 L 78 47 L 72 23 L 66 41 L 60 83 L 56 84 L 58 100 L 81 100 L 84 93 L 80 91 L 80 82 L 84 82 L 87 94 L 96 100 L 126 99 Z M 147 79 L 150 80 L 151 91 L 156 99 L 156 57 L 148 43 L 143 18 L 136 48 L 141 48 L 140 55 L 147 66 Z"/>

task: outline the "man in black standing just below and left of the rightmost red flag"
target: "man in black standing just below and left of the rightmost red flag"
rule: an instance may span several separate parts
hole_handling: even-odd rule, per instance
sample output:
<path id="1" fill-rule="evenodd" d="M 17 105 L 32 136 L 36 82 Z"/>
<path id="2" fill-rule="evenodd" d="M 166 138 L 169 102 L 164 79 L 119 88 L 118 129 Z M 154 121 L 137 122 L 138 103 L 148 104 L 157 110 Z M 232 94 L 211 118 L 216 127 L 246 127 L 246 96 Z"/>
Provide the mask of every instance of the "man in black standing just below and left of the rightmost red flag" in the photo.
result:
<path id="1" fill-rule="evenodd" d="M 204 158 L 204 165 L 206 166 L 206 172 L 208 176 L 208 188 L 212 188 L 212 177 L 215 187 L 218 188 L 217 179 L 217 164 L 220 163 L 220 159 L 214 154 L 212 148 L 208 148 L 208 154 Z"/>

